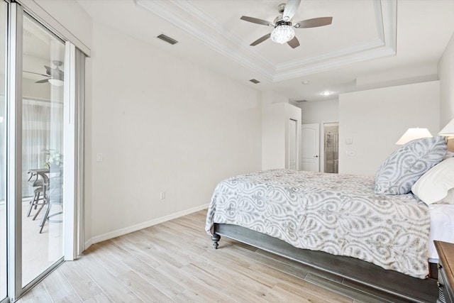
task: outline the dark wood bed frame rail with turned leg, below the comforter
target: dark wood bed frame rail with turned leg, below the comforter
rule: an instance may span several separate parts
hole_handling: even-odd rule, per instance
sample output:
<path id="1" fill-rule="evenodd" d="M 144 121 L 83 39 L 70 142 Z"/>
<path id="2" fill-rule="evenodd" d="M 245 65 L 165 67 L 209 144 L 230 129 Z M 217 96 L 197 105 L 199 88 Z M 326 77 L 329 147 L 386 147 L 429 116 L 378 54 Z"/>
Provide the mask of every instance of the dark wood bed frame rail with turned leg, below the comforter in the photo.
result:
<path id="1" fill-rule="evenodd" d="M 265 233 L 231 224 L 214 224 L 214 232 L 211 240 L 215 249 L 221 236 L 225 236 L 410 302 L 436 302 L 438 299 L 437 280 L 433 273 L 432 277 L 418 279 L 356 258 L 296 248 Z"/>

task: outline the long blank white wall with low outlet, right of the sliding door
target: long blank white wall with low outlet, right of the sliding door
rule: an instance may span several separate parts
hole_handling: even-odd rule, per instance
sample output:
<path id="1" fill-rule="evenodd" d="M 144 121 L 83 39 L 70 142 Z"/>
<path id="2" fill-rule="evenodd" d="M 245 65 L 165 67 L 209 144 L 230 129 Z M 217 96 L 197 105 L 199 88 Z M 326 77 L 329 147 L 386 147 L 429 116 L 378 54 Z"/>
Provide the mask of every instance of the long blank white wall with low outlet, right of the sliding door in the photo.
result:
<path id="1" fill-rule="evenodd" d="M 203 209 L 223 178 L 260 170 L 255 89 L 96 23 L 92 76 L 94 242 Z"/>

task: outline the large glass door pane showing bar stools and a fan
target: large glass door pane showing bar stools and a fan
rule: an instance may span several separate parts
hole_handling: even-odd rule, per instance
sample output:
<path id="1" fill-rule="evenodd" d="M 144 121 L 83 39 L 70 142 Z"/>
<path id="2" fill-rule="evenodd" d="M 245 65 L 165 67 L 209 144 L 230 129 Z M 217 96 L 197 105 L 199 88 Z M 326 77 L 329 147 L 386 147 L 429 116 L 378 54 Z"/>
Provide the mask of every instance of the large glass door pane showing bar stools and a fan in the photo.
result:
<path id="1" fill-rule="evenodd" d="M 23 18 L 22 285 L 63 257 L 65 44 Z"/>

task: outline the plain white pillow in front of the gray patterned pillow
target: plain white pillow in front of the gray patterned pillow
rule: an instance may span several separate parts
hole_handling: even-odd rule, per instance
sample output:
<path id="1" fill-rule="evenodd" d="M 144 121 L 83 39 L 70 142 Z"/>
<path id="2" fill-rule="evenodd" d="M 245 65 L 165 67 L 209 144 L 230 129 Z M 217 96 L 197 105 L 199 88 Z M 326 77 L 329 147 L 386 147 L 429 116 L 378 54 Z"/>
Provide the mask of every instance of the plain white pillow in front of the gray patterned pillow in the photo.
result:
<path id="1" fill-rule="evenodd" d="M 426 204 L 442 200 L 445 200 L 444 203 L 454 203 L 453 191 L 450 191 L 453 188 L 454 158 L 448 158 L 424 173 L 411 187 L 411 192 Z"/>

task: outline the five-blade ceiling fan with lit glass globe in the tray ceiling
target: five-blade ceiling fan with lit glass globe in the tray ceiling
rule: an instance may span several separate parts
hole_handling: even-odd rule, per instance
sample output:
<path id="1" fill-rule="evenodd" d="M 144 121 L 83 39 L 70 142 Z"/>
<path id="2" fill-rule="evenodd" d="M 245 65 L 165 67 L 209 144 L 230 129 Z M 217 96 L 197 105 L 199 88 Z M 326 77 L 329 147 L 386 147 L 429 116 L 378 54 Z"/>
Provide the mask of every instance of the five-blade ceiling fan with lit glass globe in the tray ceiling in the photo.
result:
<path id="1" fill-rule="evenodd" d="M 277 6 L 279 16 L 277 16 L 273 22 L 242 16 L 240 18 L 241 20 L 261 24 L 263 26 L 272 26 L 274 28 L 271 33 L 267 33 L 266 35 L 258 38 L 253 43 L 250 43 L 250 45 L 255 46 L 268 38 L 271 38 L 271 40 L 276 43 L 282 44 L 287 42 L 292 48 L 297 48 L 299 46 L 299 41 L 295 36 L 294 28 L 316 28 L 319 26 L 328 26 L 333 21 L 333 17 L 321 17 L 307 19 L 292 24 L 292 18 L 297 12 L 300 3 L 301 0 L 288 0 L 287 4 L 279 4 L 279 6 Z"/>

